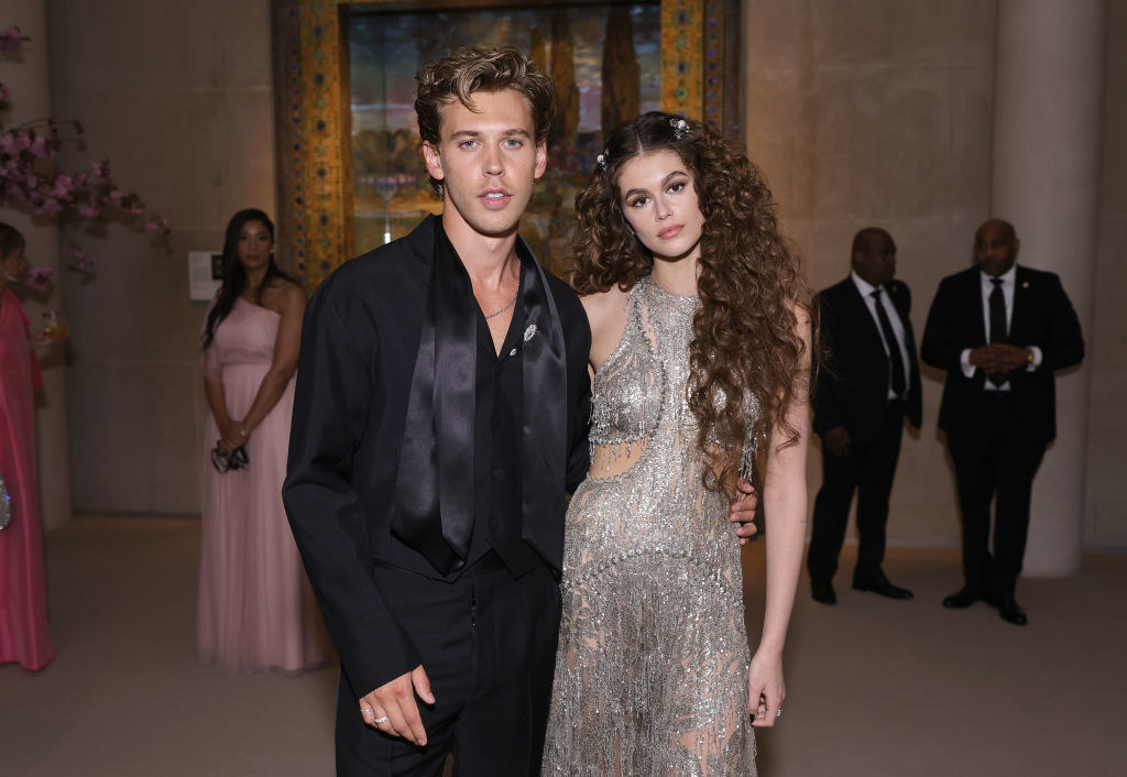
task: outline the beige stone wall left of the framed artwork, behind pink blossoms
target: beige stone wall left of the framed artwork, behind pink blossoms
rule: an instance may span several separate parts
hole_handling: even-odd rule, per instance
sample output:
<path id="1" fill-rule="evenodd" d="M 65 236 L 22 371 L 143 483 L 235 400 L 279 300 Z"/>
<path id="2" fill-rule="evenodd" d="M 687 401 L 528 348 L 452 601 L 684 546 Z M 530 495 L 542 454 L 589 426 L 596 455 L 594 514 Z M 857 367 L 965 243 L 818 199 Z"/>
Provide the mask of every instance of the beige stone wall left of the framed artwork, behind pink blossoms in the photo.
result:
<path id="1" fill-rule="evenodd" d="M 52 109 L 168 218 L 172 238 L 82 236 L 98 277 L 68 274 L 71 484 L 78 510 L 199 510 L 205 404 L 189 250 L 240 208 L 274 211 L 268 0 L 52 0 Z M 74 162 L 77 164 L 77 161 Z"/>

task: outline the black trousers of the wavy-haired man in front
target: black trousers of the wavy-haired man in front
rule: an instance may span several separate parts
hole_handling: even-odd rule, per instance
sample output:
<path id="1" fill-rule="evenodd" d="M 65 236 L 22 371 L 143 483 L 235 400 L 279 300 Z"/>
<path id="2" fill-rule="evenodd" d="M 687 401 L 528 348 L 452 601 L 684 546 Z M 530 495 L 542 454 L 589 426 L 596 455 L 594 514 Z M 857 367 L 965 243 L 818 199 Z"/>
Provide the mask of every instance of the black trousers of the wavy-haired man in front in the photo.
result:
<path id="1" fill-rule="evenodd" d="M 539 775 L 560 621 L 548 567 L 514 580 L 505 568 L 476 566 L 453 583 L 394 568 L 375 575 L 431 680 L 434 706 L 416 697 L 427 745 L 364 725 L 357 691 L 371 689 L 341 676 L 337 774 L 437 776 L 453 753 L 455 775 Z"/>

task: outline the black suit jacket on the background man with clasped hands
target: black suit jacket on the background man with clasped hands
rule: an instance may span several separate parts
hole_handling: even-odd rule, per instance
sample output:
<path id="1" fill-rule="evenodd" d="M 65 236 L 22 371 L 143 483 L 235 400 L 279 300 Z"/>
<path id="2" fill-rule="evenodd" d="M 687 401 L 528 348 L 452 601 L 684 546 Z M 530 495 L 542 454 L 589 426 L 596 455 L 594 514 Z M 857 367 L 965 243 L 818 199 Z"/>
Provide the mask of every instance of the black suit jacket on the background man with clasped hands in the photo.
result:
<path id="1" fill-rule="evenodd" d="M 1041 363 L 1033 370 L 1010 373 L 1012 398 L 1031 441 L 1056 438 L 1056 380 L 1054 371 L 1079 364 L 1084 357 L 1080 320 L 1055 273 L 1018 266 L 1010 317 L 1010 343 L 1036 345 Z M 935 292 L 923 330 L 924 362 L 947 370 L 939 427 L 948 436 L 973 435 L 980 426 L 986 376 L 976 369 L 962 374 L 959 356 L 966 348 L 986 345 L 982 271 L 970 267 L 944 277 Z"/>

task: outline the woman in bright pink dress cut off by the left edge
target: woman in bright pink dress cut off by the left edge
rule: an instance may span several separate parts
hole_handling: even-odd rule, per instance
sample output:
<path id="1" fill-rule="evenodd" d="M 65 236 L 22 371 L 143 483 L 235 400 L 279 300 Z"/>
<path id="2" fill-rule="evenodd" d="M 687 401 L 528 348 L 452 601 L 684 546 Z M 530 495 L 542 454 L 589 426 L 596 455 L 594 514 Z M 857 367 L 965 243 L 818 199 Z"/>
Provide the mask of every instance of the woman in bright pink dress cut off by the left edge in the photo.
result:
<path id="1" fill-rule="evenodd" d="M 0 664 L 18 661 L 35 671 L 55 654 L 35 478 L 34 389 L 43 379 L 30 320 L 9 288 L 26 273 L 24 236 L 0 223 L 0 477 L 11 509 L 11 523 L 0 530 Z"/>

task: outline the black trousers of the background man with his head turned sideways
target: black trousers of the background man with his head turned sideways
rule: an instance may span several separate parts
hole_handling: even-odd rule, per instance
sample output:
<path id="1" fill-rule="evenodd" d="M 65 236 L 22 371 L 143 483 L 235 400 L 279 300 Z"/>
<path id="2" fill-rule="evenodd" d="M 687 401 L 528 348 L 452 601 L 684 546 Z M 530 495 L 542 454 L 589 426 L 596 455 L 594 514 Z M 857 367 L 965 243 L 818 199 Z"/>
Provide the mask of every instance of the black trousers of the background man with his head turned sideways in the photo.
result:
<path id="1" fill-rule="evenodd" d="M 871 440 L 860 443 L 851 440 L 844 456 L 834 456 L 822 443 L 823 480 L 814 500 L 814 527 L 806 557 L 810 580 L 827 583 L 837 572 L 853 492 L 858 494 L 858 554 L 853 574 L 863 577 L 880 571 L 885 560 L 888 496 L 893 492 L 903 436 L 904 403 L 890 401 Z"/>

